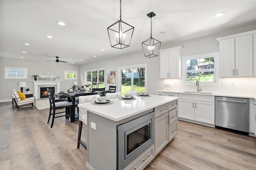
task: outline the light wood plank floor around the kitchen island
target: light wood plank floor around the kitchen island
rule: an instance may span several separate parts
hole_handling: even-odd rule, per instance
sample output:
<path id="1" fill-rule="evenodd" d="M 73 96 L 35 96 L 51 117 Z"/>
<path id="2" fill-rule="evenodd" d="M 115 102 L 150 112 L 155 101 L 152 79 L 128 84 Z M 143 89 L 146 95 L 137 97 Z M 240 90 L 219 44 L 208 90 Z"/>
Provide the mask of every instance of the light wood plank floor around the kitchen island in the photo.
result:
<path id="1" fill-rule="evenodd" d="M 0 103 L 1 170 L 84 170 L 86 150 L 76 148 L 78 121 L 47 124 L 49 109 L 14 110 Z M 85 127 L 85 126 L 84 126 Z M 86 128 L 82 138 L 86 141 Z M 178 122 L 178 135 L 146 170 L 255 170 L 256 138 Z"/>

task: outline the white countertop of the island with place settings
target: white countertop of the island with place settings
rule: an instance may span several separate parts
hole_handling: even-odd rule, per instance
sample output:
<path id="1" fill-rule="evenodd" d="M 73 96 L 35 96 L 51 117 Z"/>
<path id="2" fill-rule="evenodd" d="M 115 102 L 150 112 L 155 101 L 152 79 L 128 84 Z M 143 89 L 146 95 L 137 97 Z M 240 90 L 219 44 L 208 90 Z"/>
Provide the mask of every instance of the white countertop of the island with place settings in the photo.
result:
<path id="1" fill-rule="evenodd" d="M 151 95 L 150 97 L 136 97 L 136 100 L 110 99 L 114 103 L 111 105 L 92 105 L 82 103 L 78 107 L 86 109 L 96 115 L 100 115 L 112 121 L 120 121 L 138 113 L 158 107 L 178 99 L 178 97 Z"/>

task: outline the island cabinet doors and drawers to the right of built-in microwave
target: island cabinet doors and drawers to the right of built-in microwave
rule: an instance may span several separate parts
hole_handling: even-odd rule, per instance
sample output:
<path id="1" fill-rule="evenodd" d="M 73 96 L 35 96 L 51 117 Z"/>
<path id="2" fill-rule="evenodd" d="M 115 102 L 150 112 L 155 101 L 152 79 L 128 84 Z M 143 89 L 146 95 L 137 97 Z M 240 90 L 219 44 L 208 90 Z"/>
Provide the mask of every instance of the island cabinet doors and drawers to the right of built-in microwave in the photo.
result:
<path id="1" fill-rule="evenodd" d="M 167 108 L 167 110 L 166 110 Z M 162 112 L 161 112 L 162 111 Z M 155 109 L 155 156 L 178 132 L 178 100 Z"/>

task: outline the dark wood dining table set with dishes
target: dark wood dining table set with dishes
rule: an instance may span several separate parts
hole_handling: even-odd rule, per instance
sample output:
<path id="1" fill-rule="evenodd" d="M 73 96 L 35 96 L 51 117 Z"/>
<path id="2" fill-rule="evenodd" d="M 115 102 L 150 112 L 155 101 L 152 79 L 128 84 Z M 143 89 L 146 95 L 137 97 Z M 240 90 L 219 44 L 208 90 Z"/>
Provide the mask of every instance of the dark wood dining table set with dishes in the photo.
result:
<path id="1" fill-rule="evenodd" d="M 110 90 L 105 90 L 105 93 L 113 93 Z M 66 97 L 68 97 L 68 101 L 72 102 L 72 106 L 71 106 L 71 117 L 70 117 L 70 122 L 74 122 L 76 119 L 79 118 L 79 113 L 76 113 L 76 97 L 79 96 L 86 96 L 86 95 L 93 95 L 93 94 L 97 94 L 97 91 L 95 91 L 94 93 L 92 93 L 92 91 L 83 91 L 83 90 L 78 90 L 78 91 L 60 91 L 61 95 L 64 95 Z"/>

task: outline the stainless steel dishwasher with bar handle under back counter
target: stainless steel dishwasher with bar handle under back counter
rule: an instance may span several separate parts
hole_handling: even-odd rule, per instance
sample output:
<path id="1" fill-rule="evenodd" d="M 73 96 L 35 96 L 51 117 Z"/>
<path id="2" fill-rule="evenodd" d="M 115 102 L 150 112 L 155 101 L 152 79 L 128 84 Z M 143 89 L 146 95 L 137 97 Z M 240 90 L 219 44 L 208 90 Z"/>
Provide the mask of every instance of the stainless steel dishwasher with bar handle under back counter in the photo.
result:
<path id="1" fill-rule="evenodd" d="M 216 96 L 215 127 L 249 133 L 249 99 Z"/>

